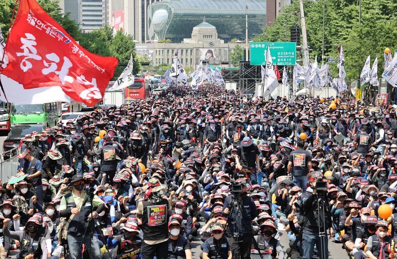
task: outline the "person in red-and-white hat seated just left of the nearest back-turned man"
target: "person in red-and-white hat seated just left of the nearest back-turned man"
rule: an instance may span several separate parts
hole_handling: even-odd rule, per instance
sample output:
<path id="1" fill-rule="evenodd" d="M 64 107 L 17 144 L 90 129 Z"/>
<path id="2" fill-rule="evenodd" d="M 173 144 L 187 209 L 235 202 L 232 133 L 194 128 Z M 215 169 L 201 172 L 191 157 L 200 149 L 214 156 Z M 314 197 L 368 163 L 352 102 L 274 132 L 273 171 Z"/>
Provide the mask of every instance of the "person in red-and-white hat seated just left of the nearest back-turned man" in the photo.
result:
<path id="1" fill-rule="evenodd" d="M 126 251 L 126 243 L 131 243 L 132 251 L 139 249 L 142 244 L 142 239 L 139 237 L 139 233 L 138 225 L 136 225 L 135 222 L 127 222 L 124 227 L 121 228 L 120 235 L 115 237 L 113 237 L 113 235 L 109 235 L 107 245 L 109 248 L 114 248 L 110 252 L 112 258 L 116 258 L 117 255 L 130 252 Z M 139 253 L 135 256 L 138 257 Z"/>

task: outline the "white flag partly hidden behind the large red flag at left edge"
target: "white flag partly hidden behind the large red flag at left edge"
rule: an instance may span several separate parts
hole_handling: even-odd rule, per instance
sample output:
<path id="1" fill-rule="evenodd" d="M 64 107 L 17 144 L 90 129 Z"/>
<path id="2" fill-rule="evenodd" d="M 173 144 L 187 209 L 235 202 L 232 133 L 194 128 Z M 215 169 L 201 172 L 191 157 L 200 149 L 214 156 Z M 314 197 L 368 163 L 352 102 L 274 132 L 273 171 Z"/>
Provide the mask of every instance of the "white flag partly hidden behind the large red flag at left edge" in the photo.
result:
<path id="1" fill-rule="evenodd" d="M 5 42 L 0 28 L 0 62 L 4 55 Z M 5 54 L 2 67 L 8 65 L 8 57 Z M 4 91 L 1 91 L 0 100 L 20 104 L 43 104 L 51 102 L 70 103 L 70 97 L 65 94 L 60 86 L 47 86 L 25 89 L 17 81 L 0 74 Z M 5 98 L 7 97 L 7 98 Z"/>

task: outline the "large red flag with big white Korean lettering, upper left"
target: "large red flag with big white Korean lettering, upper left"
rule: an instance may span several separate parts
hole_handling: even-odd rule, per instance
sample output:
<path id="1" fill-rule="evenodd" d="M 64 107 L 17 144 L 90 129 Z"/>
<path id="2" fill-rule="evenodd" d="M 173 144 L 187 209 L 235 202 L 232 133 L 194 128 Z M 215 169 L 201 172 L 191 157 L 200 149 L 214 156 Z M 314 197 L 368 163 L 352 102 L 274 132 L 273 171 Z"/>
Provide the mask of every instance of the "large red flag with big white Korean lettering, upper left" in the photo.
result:
<path id="1" fill-rule="evenodd" d="M 118 61 L 78 45 L 35 0 L 20 0 L 5 45 L 1 71 L 24 89 L 60 86 L 75 101 L 93 106 L 103 98 Z"/>

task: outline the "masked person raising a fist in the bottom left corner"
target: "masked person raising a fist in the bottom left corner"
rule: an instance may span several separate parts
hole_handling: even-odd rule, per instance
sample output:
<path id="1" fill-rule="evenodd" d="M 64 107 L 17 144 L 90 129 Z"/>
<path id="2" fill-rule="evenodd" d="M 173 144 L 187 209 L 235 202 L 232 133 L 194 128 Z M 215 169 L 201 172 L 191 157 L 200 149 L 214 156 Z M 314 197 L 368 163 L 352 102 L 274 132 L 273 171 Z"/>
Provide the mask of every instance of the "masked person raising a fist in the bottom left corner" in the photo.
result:
<path id="1" fill-rule="evenodd" d="M 21 231 L 8 230 L 9 223 L 10 219 L 4 219 L 3 233 L 5 237 L 20 242 L 18 259 L 59 259 L 59 257 L 48 257 L 45 234 L 42 231 L 43 218 L 31 217 L 26 223 L 25 230 Z"/>

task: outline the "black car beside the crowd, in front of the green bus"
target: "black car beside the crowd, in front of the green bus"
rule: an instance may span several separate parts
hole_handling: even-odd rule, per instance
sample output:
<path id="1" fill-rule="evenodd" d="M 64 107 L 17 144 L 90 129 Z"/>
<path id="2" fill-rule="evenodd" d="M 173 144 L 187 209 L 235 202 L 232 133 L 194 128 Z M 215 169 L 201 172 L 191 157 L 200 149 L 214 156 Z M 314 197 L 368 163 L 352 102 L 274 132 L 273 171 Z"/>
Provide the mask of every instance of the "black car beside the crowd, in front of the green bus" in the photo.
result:
<path id="1" fill-rule="evenodd" d="M 3 142 L 3 152 L 18 147 L 21 140 L 25 137 L 26 134 L 31 134 L 33 131 L 41 132 L 44 129 L 45 127 L 43 125 L 37 125 L 37 124 L 24 124 L 13 127 L 8 132 L 8 135 Z M 18 150 L 12 151 L 12 156 L 16 154 L 18 154 Z M 10 156 L 11 156 L 10 153 L 4 154 L 4 159 L 9 158 Z"/>

